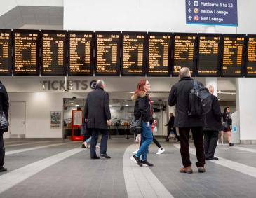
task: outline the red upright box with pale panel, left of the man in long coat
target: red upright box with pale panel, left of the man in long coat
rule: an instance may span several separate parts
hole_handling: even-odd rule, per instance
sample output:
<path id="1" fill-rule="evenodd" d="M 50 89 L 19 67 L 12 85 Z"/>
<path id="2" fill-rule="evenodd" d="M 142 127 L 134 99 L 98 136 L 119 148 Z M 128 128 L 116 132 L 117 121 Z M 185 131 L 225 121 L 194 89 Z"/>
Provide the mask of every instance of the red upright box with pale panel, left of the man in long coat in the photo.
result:
<path id="1" fill-rule="evenodd" d="M 82 141 L 83 135 L 81 135 L 81 125 L 83 123 L 83 111 L 72 110 L 72 141 Z"/>

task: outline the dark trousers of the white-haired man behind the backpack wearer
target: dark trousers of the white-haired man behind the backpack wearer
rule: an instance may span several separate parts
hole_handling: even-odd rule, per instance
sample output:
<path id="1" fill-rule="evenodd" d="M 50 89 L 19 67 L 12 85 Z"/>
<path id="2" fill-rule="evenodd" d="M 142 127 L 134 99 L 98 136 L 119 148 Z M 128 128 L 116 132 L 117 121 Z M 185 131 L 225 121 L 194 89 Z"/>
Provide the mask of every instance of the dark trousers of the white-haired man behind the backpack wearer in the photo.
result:
<path id="1" fill-rule="evenodd" d="M 215 148 L 217 146 L 217 141 L 219 138 L 218 131 L 203 131 L 204 134 L 204 153 L 206 158 L 213 157 L 215 153 Z"/>

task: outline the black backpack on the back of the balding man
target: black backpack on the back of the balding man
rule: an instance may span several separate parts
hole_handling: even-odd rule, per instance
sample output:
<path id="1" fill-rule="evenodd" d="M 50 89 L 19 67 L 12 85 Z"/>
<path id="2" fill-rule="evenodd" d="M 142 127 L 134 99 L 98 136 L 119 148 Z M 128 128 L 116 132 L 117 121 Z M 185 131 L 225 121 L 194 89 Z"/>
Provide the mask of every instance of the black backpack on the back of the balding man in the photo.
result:
<path id="1" fill-rule="evenodd" d="M 198 85 L 193 80 L 194 87 L 189 92 L 189 112 L 188 115 L 201 117 L 212 109 L 212 98 L 209 90 L 202 85 Z"/>

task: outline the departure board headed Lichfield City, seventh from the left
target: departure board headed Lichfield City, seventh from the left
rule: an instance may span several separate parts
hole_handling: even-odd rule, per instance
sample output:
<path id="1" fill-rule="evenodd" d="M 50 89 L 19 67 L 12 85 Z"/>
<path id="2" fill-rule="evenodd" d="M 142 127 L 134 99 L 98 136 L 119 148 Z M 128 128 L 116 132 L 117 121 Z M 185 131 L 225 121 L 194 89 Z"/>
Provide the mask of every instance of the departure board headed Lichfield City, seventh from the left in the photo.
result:
<path id="1" fill-rule="evenodd" d="M 172 34 L 149 32 L 147 37 L 147 76 L 170 76 Z"/>

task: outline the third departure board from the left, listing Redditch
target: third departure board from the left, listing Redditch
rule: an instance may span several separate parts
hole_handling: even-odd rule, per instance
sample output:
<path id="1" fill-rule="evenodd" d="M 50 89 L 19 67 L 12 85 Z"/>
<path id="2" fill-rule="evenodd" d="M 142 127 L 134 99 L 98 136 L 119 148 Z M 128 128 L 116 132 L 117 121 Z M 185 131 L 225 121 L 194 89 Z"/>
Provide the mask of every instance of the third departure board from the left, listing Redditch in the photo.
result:
<path id="1" fill-rule="evenodd" d="M 41 76 L 66 76 L 66 31 L 41 31 Z"/>

